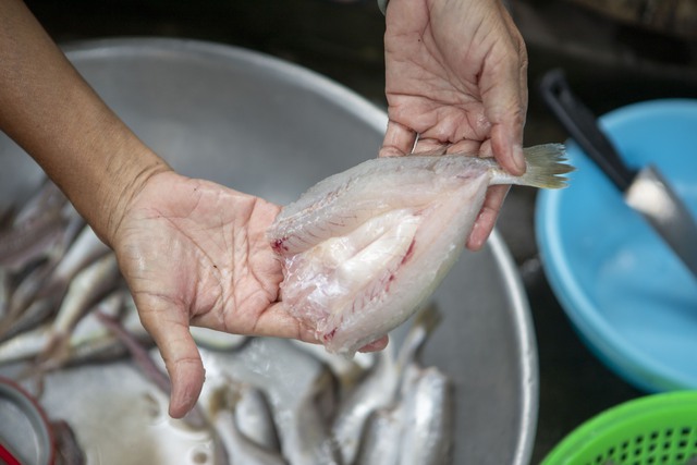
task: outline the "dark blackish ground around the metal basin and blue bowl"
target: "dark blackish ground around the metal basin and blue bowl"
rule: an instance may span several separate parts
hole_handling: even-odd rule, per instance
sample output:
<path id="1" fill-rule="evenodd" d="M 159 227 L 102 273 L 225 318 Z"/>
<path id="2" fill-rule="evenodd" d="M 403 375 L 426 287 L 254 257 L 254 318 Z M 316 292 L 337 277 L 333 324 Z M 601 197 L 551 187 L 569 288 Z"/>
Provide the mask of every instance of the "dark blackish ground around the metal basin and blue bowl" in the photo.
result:
<path id="1" fill-rule="evenodd" d="M 313 69 L 384 107 L 384 19 L 375 0 L 32 0 L 27 4 L 59 42 L 168 36 L 231 44 Z M 536 90 L 551 68 L 566 70 L 572 86 L 596 114 L 638 100 L 697 97 L 694 38 L 620 23 L 573 1 L 513 0 L 510 5 L 530 59 L 526 145 L 566 138 Z M 513 188 L 498 229 L 521 269 L 535 320 L 540 363 L 533 455 L 537 464 L 580 423 L 643 393 L 597 362 L 571 328 L 537 256 L 534 203 L 533 189 Z"/>

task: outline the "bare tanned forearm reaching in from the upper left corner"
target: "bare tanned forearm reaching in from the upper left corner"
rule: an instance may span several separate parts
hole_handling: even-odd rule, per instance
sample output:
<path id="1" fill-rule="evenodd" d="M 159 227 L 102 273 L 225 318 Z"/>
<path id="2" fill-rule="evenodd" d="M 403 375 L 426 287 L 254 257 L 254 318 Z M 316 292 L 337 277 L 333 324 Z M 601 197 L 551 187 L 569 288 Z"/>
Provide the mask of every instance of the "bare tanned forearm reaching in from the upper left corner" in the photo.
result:
<path id="1" fill-rule="evenodd" d="M 167 164 L 101 101 L 19 0 L 0 0 L 0 129 L 107 243 Z"/>

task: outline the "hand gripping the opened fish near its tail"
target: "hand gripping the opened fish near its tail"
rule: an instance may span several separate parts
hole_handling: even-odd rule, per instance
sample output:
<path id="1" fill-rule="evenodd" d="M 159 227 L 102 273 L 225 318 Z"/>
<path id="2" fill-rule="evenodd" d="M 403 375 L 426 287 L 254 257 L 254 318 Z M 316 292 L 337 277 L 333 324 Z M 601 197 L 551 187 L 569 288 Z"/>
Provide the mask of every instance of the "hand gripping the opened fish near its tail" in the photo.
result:
<path id="1" fill-rule="evenodd" d="M 380 156 L 465 151 L 523 174 L 527 53 L 501 1 L 390 0 L 386 22 Z M 508 188 L 489 188 L 468 248 L 485 244 Z"/>

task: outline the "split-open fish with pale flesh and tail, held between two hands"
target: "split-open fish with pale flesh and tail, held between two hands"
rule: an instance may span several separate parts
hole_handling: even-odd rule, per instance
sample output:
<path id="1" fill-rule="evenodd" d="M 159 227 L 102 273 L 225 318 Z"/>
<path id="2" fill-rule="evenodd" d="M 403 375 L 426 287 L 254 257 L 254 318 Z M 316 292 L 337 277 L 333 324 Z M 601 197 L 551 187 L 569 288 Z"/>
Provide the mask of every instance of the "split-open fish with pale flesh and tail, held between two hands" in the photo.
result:
<path id="1" fill-rule="evenodd" d="M 487 187 L 566 185 L 563 146 L 524 152 L 522 176 L 493 159 L 447 155 L 377 158 L 319 182 L 268 231 L 288 310 L 348 355 L 400 326 L 460 256 Z"/>

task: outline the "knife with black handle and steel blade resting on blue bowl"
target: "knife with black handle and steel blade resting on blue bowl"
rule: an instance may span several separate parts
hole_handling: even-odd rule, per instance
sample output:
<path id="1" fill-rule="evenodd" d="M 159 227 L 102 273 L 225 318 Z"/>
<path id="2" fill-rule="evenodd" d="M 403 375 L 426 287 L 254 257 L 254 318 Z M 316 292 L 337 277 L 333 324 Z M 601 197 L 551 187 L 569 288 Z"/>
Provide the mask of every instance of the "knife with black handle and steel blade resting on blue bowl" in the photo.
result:
<path id="1" fill-rule="evenodd" d="M 669 181 L 653 164 L 634 170 L 624 162 L 596 117 L 571 90 L 562 70 L 548 72 L 540 89 L 545 102 L 572 138 L 697 279 L 697 223 Z"/>

